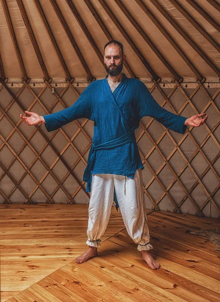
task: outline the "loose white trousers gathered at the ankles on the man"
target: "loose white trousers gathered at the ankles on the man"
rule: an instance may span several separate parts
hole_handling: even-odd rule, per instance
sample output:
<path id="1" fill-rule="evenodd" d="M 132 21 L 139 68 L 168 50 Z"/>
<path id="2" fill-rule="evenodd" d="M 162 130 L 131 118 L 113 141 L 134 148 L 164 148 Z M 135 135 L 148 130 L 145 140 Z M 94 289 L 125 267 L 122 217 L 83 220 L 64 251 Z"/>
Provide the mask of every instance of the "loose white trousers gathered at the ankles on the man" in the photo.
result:
<path id="1" fill-rule="evenodd" d="M 111 214 L 114 186 L 127 232 L 138 244 L 138 251 L 153 249 L 147 224 L 141 169 L 136 170 L 134 179 L 115 174 L 92 174 L 86 244 L 100 247 L 100 237 L 107 228 Z"/>

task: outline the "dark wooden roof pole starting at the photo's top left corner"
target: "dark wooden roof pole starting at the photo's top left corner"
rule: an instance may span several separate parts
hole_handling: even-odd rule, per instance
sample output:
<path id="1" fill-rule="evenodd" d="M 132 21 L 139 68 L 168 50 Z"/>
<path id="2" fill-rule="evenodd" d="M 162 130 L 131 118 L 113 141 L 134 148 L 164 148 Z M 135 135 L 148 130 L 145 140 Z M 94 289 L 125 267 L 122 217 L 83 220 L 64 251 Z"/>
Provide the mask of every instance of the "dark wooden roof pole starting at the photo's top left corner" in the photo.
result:
<path id="1" fill-rule="evenodd" d="M 14 28 L 13 28 L 13 25 L 12 25 L 12 20 L 11 20 L 10 13 L 9 13 L 9 8 L 7 6 L 6 0 L 1 0 L 1 2 L 2 2 L 5 17 L 6 17 L 6 21 L 7 21 L 7 24 L 8 24 L 9 32 L 10 32 L 10 35 L 11 35 L 11 38 L 12 38 L 12 43 L 14 45 L 15 52 L 16 52 L 16 55 L 17 55 L 17 58 L 18 58 L 18 61 L 19 61 L 19 65 L 20 65 L 20 68 L 21 68 L 21 71 L 22 71 L 22 77 L 24 78 L 25 81 L 27 81 L 28 80 L 28 75 L 26 73 L 25 65 L 24 65 L 24 62 L 23 62 L 23 59 L 22 59 L 22 55 L 21 55 L 21 52 L 20 52 L 20 49 L 19 49 L 18 41 L 17 41 L 15 31 L 14 31 Z"/>

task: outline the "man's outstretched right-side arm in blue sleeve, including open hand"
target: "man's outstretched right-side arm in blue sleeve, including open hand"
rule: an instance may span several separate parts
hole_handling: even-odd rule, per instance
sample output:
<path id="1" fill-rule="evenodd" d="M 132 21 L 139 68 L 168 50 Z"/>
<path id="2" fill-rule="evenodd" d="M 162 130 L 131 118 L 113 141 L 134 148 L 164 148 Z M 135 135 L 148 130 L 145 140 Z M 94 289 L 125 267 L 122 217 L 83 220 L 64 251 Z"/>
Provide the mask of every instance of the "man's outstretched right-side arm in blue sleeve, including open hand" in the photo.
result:
<path id="1" fill-rule="evenodd" d="M 166 128 L 184 134 L 187 126 L 199 127 L 207 120 L 205 113 L 196 114 L 189 118 L 174 114 L 162 108 L 153 98 L 147 87 L 142 83 L 139 90 L 138 113 L 139 117 L 151 116 Z M 202 118 L 203 117 L 203 118 Z"/>

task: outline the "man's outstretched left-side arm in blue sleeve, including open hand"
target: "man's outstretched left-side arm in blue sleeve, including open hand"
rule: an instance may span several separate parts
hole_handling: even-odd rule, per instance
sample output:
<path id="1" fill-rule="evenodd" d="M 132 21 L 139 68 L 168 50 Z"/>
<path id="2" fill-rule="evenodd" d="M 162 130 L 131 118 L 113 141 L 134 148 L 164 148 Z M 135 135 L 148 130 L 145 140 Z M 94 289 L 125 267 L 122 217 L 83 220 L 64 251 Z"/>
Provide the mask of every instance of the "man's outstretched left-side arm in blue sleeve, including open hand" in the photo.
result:
<path id="1" fill-rule="evenodd" d="M 92 120 L 90 98 L 90 87 L 89 89 L 87 87 L 78 100 L 68 108 L 43 116 L 35 112 L 25 111 L 25 113 L 30 116 L 20 114 L 20 117 L 28 125 L 40 125 L 45 123 L 48 132 L 54 131 L 78 118 L 88 118 Z"/>

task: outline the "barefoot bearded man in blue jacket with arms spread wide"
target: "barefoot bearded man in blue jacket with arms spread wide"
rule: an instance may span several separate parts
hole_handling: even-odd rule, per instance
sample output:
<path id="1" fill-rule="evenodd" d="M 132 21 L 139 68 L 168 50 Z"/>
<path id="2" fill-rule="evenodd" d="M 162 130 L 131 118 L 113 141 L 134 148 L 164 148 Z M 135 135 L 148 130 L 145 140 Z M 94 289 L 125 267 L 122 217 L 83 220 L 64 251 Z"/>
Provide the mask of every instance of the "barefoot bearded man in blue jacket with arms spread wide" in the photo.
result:
<path id="1" fill-rule="evenodd" d="M 88 249 L 75 262 L 83 263 L 97 256 L 115 200 L 129 236 L 138 244 L 142 260 L 151 269 L 158 269 L 160 264 L 149 252 L 153 246 L 144 200 L 144 166 L 135 129 L 143 116 L 151 116 L 166 128 L 184 134 L 187 125 L 198 127 L 206 121 L 207 115 L 186 118 L 162 108 L 141 81 L 127 78 L 122 73 L 125 60 L 123 45 L 109 41 L 104 46 L 105 79 L 92 82 L 69 108 L 43 116 L 25 111 L 30 116 L 20 116 L 28 125 L 45 123 L 47 131 L 54 131 L 78 118 L 94 121 L 93 143 L 83 175 L 86 191 L 90 192 Z"/>

